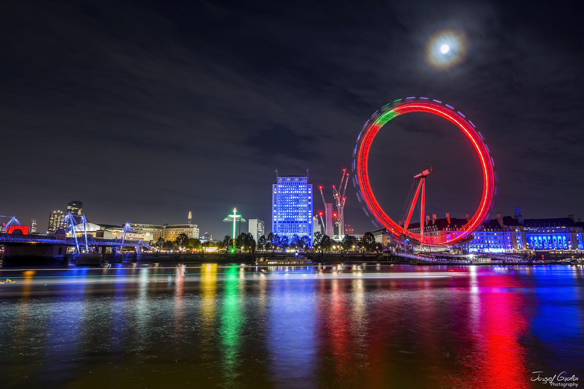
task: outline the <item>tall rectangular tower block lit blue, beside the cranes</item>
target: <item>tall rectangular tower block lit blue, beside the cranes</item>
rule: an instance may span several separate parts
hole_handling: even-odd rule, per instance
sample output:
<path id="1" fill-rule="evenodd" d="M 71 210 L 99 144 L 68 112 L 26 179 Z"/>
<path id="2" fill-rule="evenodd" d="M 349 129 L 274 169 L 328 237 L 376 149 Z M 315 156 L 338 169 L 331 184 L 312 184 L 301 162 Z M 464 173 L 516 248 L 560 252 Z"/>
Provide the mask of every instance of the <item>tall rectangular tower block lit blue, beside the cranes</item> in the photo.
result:
<path id="1" fill-rule="evenodd" d="M 272 185 L 272 233 L 308 236 L 312 244 L 312 184 L 308 177 L 282 176 Z"/>

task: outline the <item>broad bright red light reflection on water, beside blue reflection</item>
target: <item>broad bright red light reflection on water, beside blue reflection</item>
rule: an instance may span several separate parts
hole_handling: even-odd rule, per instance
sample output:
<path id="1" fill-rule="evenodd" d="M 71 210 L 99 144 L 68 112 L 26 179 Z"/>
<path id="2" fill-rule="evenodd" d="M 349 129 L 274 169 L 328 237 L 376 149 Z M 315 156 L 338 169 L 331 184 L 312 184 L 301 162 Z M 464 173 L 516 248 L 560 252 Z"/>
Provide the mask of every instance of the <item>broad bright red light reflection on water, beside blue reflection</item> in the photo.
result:
<path id="1" fill-rule="evenodd" d="M 479 278 L 481 313 L 478 323 L 470 323 L 477 329 L 472 331 L 476 357 L 469 366 L 478 388 L 531 387 L 526 351 L 519 344 L 529 326 L 523 312 L 527 302 L 522 293 L 505 290 L 513 283 L 500 274 Z"/>

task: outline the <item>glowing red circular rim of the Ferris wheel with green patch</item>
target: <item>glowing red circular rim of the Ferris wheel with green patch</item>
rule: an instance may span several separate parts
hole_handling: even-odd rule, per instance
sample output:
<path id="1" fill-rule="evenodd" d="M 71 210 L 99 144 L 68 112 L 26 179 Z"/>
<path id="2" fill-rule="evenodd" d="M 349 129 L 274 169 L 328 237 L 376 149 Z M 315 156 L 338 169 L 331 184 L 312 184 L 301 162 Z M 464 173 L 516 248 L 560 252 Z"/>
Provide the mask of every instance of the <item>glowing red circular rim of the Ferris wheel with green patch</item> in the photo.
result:
<path id="1" fill-rule="evenodd" d="M 367 170 L 369 152 L 373 139 L 381 127 L 392 118 L 410 112 L 427 112 L 443 117 L 456 125 L 470 140 L 475 152 L 477 153 L 479 162 L 481 163 L 483 188 L 481 201 L 479 202 L 477 211 L 464 226 L 458 227 L 457 230 L 453 230 L 449 234 L 430 236 L 409 232 L 398 223 L 395 223 L 394 220 L 383 211 L 373 194 L 373 190 L 371 190 L 369 173 Z M 470 120 L 467 120 L 460 111 L 455 111 L 454 108 L 451 108 L 447 104 L 442 105 L 441 101 L 429 101 L 429 99 L 424 97 L 420 99 L 410 97 L 409 99 L 406 99 L 406 101 L 397 100 L 394 101 L 394 103 L 381 108 L 381 110 L 374 113 L 370 120 L 368 120 L 363 126 L 363 130 L 357 137 L 357 145 L 353 152 L 353 158 L 353 173 L 355 173 L 353 180 L 354 185 L 357 188 L 357 198 L 359 199 L 359 202 L 365 202 L 367 207 L 367 209 L 366 207 L 363 207 L 363 211 L 365 211 L 367 216 L 373 216 L 375 218 L 371 220 L 375 225 L 381 223 L 381 225 L 387 228 L 400 240 L 405 240 L 405 237 L 407 237 L 407 239 L 412 240 L 413 243 L 416 243 L 417 241 L 419 244 L 425 246 L 448 246 L 465 239 L 465 237 L 477 230 L 491 211 L 493 197 L 496 194 L 496 187 L 494 162 L 489 155 L 489 148 L 483 141 L 480 132 L 475 129 L 474 124 L 472 124 Z"/>

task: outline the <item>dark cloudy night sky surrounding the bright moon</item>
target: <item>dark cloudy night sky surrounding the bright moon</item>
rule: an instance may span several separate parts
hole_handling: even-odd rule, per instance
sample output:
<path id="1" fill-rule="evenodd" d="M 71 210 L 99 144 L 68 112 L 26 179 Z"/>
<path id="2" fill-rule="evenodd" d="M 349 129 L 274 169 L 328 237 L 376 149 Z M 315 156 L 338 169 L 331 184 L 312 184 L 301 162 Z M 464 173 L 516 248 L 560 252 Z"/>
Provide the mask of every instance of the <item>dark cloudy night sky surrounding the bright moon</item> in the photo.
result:
<path id="1" fill-rule="evenodd" d="M 485 136 L 496 212 L 584 217 L 581 2 L 5 1 L 0 4 L 0 215 L 22 225 L 71 199 L 95 223 L 193 222 L 223 237 L 237 207 L 266 221 L 270 184 L 305 174 L 327 201 L 381 106 L 427 96 Z M 448 68 L 439 31 L 464 37 Z M 429 166 L 427 213 L 464 217 L 477 158 L 445 121 L 386 125 L 370 162 L 398 218 Z M 318 192 L 315 211 L 324 208 Z M 347 188 L 347 224 L 374 227 Z M 418 220 L 413 220 L 417 222 Z"/>

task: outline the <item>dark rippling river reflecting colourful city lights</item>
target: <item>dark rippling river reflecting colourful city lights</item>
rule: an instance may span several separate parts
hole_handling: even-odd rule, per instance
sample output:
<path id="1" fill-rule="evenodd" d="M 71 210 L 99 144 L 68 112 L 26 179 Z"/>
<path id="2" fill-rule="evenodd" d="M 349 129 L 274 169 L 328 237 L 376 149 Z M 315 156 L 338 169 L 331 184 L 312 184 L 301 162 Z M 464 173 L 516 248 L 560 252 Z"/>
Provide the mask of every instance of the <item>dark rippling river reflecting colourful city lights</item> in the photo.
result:
<path id="1" fill-rule="evenodd" d="M 0 386 L 550 387 L 537 376 L 584 380 L 583 272 L 2 268 Z"/>

